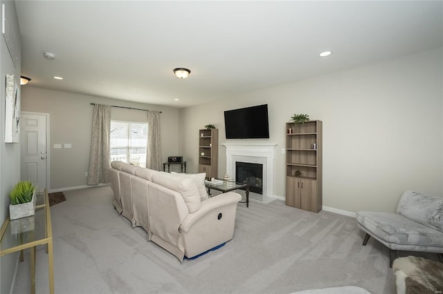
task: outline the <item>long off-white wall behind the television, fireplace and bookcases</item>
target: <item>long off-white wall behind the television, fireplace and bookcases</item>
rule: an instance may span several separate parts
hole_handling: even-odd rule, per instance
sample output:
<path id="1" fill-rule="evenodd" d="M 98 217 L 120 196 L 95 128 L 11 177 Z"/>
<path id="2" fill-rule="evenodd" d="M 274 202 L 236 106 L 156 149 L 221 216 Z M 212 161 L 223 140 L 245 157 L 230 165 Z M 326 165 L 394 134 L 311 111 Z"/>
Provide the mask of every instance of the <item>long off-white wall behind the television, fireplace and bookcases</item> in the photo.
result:
<path id="1" fill-rule="evenodd" d="M 443 50 L 392 59 L 180 110 L 181 154 L 197 172 L 198 129 L 224 135 L 224 110 L 269 105 L 278 144 L 274 193 L 284 197 L 284 123 L 294 113 L 323 121 L 323 205 L 393 212 L 404 190 L 442 195 Z M 226 170 L 219 146 L 219 176 Z"/>

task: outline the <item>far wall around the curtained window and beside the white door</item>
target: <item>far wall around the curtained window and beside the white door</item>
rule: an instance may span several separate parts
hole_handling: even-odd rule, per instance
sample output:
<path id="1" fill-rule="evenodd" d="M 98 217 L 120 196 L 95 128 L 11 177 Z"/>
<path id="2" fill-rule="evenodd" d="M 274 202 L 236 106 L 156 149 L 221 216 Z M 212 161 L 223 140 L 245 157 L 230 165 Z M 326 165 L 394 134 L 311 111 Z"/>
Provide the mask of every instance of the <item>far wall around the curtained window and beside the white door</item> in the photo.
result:
<path id="1" fill-rule="evenodd" d="M 93 106 L 96 104 L 125 106 L 162 111 L 162 157 L 178 153 L 177 127 L 179 110 L 167 106 L 140 104 L 123 100 L 93 97 L 24 86 L 21 88 L 21 110 L 49 113 L 51 182 L 50 190 L 66 190 L 87 185 Z M 147 112 L 111 108 L 111 119 L 147 121 Z M 54 149 L 53 144 L 72 144 L 71 149 Z"/>

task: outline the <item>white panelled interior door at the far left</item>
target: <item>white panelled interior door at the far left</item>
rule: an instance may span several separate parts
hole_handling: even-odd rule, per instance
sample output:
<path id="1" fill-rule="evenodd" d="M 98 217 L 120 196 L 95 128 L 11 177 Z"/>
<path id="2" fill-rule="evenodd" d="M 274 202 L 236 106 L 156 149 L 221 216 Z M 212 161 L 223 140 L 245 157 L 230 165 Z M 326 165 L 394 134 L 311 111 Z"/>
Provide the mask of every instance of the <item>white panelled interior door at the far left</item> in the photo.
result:
<path id="1" fill-rule="evenodd" d="M 48 115 L 21 112 L 21 180 L 46 187 L 48 177 Z"/>

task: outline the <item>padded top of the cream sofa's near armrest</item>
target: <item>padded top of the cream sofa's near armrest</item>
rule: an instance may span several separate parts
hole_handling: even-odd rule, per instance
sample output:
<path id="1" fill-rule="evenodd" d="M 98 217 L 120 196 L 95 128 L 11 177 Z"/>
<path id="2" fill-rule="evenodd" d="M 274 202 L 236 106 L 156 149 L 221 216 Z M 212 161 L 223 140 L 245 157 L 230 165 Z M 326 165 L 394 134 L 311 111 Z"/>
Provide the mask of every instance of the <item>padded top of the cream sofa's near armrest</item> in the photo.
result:
<path id="1" fill-rule="evenodd" d="M 242 196 L 235 192 L 228 192 L 217 195 L 215 197 L 210 197 L 205 201 L 201 202 L 200 209 L 195 213 L 190 213 L 186 219 L 184 219 L 183 223 L 180 226 L 180 230 L 183 232 L 189 232 L 192 224 L 195 224 L 202 217 L 207 215 L 213 210 L 217 210 L 222 206 L 229 206 L 231 204 L 235 204 L 242 199 Z"/>

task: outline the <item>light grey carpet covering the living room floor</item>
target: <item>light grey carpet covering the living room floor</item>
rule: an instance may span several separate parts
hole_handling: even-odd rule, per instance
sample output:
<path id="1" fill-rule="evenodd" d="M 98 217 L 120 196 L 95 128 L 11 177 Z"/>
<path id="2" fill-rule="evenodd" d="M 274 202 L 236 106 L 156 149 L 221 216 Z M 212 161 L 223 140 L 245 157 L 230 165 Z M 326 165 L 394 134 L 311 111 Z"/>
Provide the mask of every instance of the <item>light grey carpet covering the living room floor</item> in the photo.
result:
<path id="1" fill-rule="evenodd" d="M 56 293 L 292 293 L 359 286 L 393 293 L 388 249 L 362 246 L 352 217 L 239 204 L 234 238 L 183 264 L 118 215 L 108 186 L 71 190 L 51 207 Z M 27 254 L 28 255 L 28 254 Z M 15 293 L 28 293 L 28 256 Z M 48 293 L 47 255 L 37 251 L 37 293 Z"/>

